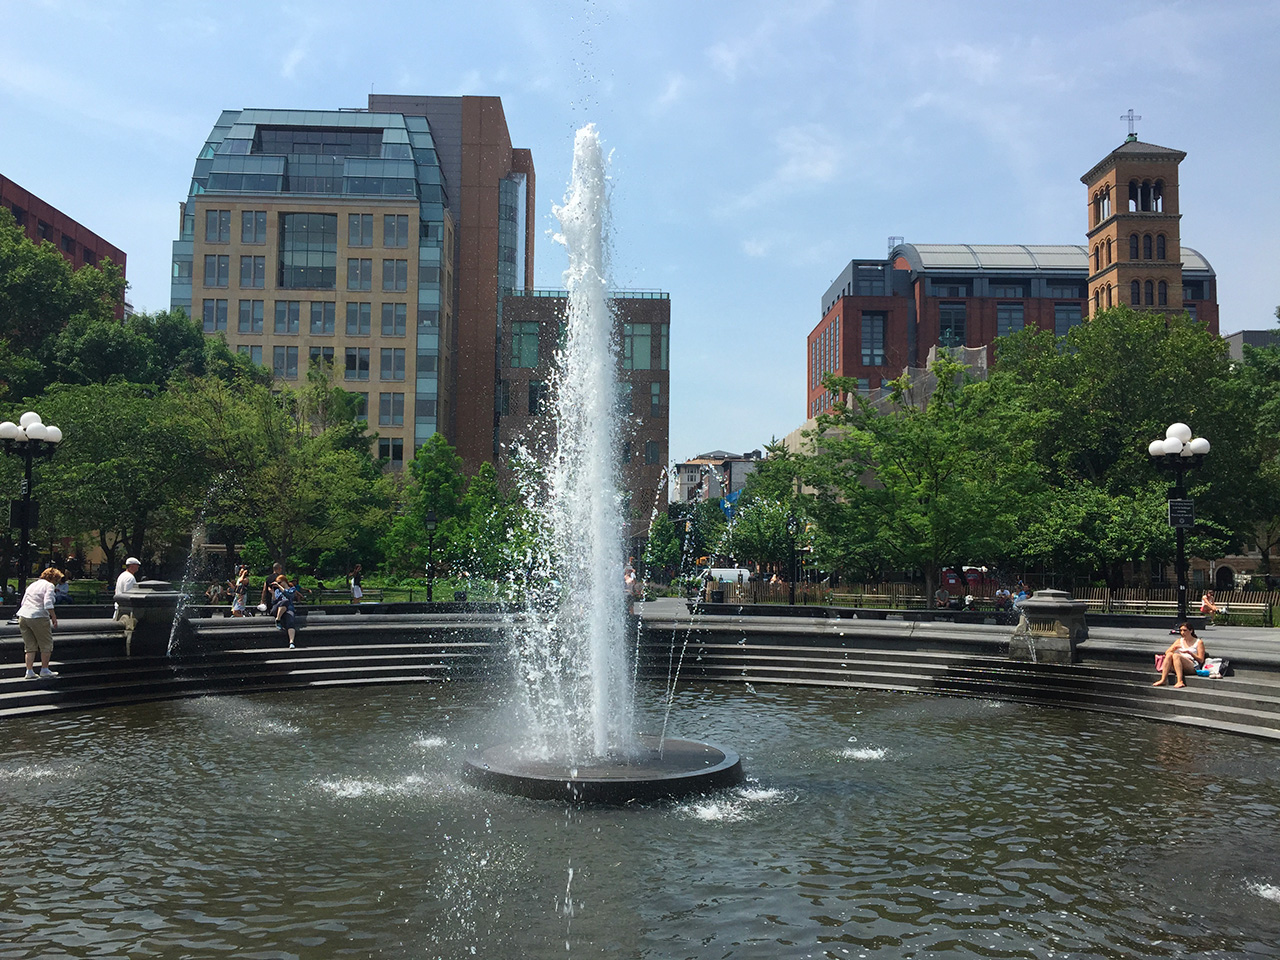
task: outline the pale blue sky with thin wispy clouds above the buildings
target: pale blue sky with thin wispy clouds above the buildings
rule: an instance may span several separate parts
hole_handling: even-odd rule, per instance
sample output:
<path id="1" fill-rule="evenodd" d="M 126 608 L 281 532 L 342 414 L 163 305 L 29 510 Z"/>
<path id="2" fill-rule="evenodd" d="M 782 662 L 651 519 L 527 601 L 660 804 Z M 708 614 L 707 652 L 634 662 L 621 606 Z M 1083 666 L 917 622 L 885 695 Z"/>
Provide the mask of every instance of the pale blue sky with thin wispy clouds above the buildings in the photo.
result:
<path id="1" fill-rule="evenodd" d="M 536 169 L 536 285 L 573 133 L 611 154 L 616 288 L 671 294 L 671 456 L 763 447 L 805 413 L 805 335 L 852 259 L 1083 243 L 1080 177 L 1187 152 L 1181 237 L 1221 330 L 1280 305 L 1280 4 L 847 0 L 0 0 L 0 173 L 128 255 L 170 242 L 223 109 L 502 97 Z"/>

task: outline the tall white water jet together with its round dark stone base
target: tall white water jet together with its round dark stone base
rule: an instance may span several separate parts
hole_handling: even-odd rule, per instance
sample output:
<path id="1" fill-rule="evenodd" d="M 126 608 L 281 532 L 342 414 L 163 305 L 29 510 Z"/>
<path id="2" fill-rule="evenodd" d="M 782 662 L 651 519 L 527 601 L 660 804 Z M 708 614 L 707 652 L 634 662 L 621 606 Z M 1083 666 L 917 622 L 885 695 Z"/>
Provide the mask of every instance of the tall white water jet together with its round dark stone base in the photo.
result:
<path id="1" fill-rule="evenodd" d="M 573 173 L 556 207 L 568 250 L 568 330 L 553 383 L 556 442 L 530 493 L 544 529 L 540 576 L 513 625 L 529 736 L 467 759 L 466 777 L 538 799 L 631 803 L 731 786 L 731 750 L 635 730 L 632 663 L 622 586 L 617 477 L 616 323 L 608 301 L 608 189 L 589 124 L 573 141 Z"/>

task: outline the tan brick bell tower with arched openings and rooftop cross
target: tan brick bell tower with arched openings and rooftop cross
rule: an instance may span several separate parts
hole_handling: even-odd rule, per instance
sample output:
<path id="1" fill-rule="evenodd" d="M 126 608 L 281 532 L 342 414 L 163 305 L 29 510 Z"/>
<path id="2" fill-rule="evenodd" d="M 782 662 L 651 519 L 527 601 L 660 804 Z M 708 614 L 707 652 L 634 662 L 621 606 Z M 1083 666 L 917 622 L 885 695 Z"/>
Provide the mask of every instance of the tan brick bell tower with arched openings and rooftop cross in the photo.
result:
<path id="1" fill-rule="evenodd" d="M 1178 211 L 1180 150 L 1143 143 L 1133 132 L 1080 180 L 1088 198 L 1089 316 L 1126 303 L 1134 310 L 1183 308 Z"/>

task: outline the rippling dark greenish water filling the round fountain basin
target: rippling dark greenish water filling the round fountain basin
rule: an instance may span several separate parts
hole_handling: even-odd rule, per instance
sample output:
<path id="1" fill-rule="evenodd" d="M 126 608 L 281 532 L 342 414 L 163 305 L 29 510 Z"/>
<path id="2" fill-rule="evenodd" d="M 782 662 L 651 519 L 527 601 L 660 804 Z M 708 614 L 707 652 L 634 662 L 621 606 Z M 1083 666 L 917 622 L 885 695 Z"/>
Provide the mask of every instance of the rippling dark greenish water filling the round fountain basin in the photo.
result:
<path id="1" fill-rule="evenodd" d="M 641 728 L 660 724 L 641 690 Z M 1280 746 L 872 691 L 689 686 L 749 782 L 465 785 L 471 685 L 0 722 L 0 960 L 1280 957 Z"/>

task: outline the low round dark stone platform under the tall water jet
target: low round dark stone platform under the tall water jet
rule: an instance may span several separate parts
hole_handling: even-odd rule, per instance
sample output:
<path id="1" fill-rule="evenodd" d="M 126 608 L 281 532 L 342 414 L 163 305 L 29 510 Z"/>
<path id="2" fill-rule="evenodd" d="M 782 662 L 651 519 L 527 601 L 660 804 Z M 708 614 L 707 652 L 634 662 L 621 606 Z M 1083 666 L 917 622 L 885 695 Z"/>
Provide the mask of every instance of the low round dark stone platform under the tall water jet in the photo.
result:
<path id="1" fill-rule="evenodd" d="M 742 762 L 732 750 L 694 740 L 641 736 L 639 741 L 635 754 L 570 767 L 526 756 L 517 744 L 498 744 L 468 756 L 462 774 L 502 794 L 588 804 L 672 800 L 742 782 Z"/>

